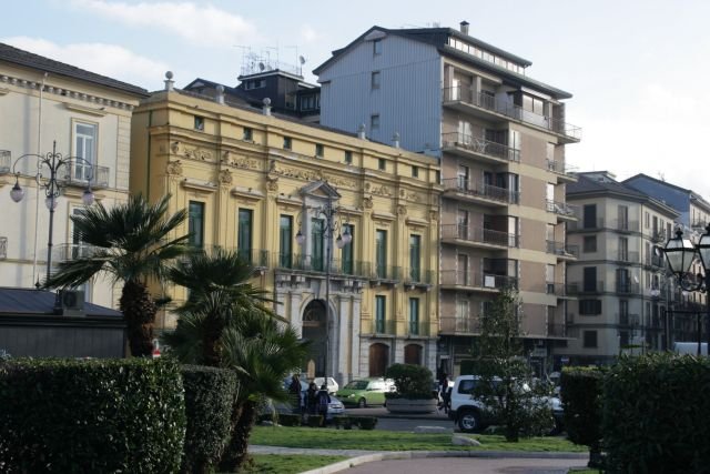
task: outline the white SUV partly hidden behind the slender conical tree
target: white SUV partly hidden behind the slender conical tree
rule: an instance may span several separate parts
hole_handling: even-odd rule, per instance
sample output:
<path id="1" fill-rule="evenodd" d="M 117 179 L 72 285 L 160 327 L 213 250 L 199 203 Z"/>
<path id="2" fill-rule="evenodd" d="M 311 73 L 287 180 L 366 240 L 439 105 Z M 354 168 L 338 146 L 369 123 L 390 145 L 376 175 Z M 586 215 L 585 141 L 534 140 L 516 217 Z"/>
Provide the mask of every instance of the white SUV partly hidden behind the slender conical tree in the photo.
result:
<path id="1" fill-rule="evenodd" d="M 452 404 L 448 412 L 452 418 L 463 432 L 473 433 L 496 423 L 496 420 L 486 404 L 473 396 L 476 384 L 479 383 L 478 375 L 459 375 L 454 382 L 452 390 Z M 527 384 L 521 385 L 521 390 L 529 391 Z M 562 430 L 562 403 L 557 396 L 540 396 L 539 403 L 546 403 L 552 412 L 555 428 L 552 433 Z"/>

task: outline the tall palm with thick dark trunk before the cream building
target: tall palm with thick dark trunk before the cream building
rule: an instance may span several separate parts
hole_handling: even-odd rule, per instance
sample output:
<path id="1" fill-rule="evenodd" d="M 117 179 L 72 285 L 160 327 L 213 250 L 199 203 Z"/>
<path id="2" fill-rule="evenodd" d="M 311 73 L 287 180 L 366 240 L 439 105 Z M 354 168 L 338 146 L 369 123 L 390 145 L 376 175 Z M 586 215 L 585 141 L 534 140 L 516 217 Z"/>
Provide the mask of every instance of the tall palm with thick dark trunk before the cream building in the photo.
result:
<path id="1" fill-rule="evenodd" d="M 150 355 L 153 349 L 158 307 L 148 282 L 162 280 L 168 262 L 189 251 L 187 235 L 170 238 L 187 214 L 181 210 L 168 215 L 169 201 L 170 195 L 165 195 L 151 204 L 136 195 L 111 209 L 99 203 L 72 215 L 75 232 L 93 252 L 60 263 L 57 273 L 44 282 L 44 288 L 71 288 L 97 273 L 108 273 L 114 282 L 123 282 L 119 307 L 134 356 Z"/>

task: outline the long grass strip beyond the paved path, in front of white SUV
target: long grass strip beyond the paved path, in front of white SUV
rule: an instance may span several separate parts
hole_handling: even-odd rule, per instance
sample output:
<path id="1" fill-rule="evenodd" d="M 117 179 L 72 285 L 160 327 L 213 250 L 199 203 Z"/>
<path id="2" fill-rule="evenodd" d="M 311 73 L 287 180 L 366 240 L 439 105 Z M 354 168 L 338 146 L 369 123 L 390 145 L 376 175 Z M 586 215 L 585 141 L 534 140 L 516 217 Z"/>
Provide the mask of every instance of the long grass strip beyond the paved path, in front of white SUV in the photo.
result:
<path id="1" fill-rule="evenodd" d="M 450 434 L 414 434 L 392 431 L 332 430 L 287 426 L 254 426 L 251 444 L 285 447 L 313 447 L 327 450 L 371 450 L 371 451 L 565 451 L 587 452 L 587 446 L 578 446 L 557 437 L 523 438 L 518 443 L 508 443 L 503 436 L 470 435 L 481 446 L 454 446 Z"/>

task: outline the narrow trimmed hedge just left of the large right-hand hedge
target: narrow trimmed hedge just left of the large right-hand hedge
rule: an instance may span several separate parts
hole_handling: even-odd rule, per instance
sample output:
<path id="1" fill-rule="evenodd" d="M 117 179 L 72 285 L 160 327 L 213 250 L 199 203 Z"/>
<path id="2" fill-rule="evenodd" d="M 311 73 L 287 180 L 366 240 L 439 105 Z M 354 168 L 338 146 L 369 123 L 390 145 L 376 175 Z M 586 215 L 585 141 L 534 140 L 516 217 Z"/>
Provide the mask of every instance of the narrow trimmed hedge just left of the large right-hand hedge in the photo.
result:
<path id="1" fill-rule="evenodd" d="M 602 381 L 599 367 L 565 367 L 560 379 L 567 437 L 592 451 L 597 451 L 601 442 Z"/>

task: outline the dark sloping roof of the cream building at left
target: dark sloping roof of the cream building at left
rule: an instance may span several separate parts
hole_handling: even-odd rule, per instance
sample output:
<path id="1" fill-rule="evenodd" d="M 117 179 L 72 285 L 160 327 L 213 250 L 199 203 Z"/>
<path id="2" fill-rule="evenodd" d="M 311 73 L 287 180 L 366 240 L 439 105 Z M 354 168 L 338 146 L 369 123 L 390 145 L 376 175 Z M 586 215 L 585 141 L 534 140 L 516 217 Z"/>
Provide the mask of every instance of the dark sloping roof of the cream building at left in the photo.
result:
<path id="1" fill-rule="evenodd" d="M 90 72 L 84 69 L 77 68 L 75 65 L 54 61 L 53 59 L 44 58 L 43 56 L 34 54 L 6 43 L 0 43 L 0 61 L 11 62 L 13 64 L 91 82 L 93 84 L 116 89 L 139 97 L 149 95 L 145 89 L 139 88 L 138 85 L 97 74 L 95 72 Z"/>

